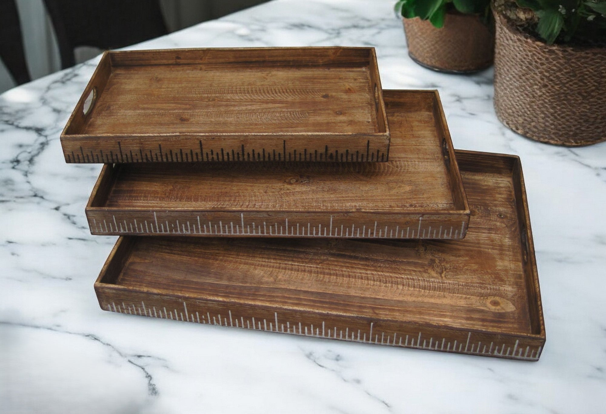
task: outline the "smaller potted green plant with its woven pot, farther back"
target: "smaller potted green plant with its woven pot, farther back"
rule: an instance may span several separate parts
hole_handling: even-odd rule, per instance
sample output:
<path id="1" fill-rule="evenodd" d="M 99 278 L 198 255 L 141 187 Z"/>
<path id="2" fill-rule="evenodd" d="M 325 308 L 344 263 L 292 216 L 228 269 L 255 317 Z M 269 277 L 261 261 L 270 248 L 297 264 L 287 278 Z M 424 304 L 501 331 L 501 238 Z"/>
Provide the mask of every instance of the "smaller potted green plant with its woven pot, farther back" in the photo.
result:
<path id="1" fill-rule="evenodd" d="M 493 62 L 490 0 L 399 0 L 408 54 L 419 65 L 470 73 Z"/>

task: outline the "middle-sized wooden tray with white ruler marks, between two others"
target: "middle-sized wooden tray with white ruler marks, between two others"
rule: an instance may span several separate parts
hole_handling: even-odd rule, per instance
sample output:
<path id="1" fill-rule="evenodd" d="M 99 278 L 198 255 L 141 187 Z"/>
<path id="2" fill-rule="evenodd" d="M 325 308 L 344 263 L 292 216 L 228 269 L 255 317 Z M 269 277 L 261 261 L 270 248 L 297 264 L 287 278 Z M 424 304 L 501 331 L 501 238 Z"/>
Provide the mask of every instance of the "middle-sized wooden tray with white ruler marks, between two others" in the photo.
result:
<path id="1" fill-rule="evenodd" d="M 469 207 L 436 91 L 385 91 L 386 163 L 105 165 L 93 234 L 462 238 Z"/>

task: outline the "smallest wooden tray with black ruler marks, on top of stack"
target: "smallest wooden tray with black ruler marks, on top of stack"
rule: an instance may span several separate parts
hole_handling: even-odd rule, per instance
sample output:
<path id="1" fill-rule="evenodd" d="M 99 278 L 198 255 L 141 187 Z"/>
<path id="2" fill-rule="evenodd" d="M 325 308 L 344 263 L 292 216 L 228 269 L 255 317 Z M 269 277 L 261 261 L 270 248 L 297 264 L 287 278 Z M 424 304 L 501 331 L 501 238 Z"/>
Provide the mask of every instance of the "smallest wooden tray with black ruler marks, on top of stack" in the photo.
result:
<path id="1" fill-rule="evenodd" d="M 389 137 L 374 48 L 210 48 L 106 52 L 61 144 L 84 163 L 387 161 Z"/>

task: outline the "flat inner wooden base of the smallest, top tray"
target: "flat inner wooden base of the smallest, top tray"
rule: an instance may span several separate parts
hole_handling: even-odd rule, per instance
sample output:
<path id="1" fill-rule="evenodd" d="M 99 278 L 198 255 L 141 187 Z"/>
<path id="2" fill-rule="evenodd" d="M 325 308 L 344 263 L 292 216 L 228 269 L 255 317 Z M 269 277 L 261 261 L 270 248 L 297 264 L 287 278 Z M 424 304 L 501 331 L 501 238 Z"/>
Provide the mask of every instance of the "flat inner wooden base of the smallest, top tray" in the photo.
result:
<path id="1" fill-rule="evenodd" d="M 365 67 L 114 67 L 82 133 L 375 133 L 371 85 Z"/>

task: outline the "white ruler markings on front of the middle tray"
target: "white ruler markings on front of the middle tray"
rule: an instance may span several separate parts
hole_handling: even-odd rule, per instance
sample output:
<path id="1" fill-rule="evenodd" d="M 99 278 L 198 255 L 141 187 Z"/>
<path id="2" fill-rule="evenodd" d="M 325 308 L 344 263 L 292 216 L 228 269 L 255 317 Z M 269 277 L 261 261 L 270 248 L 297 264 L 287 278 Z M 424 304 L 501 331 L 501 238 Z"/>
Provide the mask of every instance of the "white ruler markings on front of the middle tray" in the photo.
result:
<path id="1" fill-rule="evenodd" d="M 132 222 L 128 222 L 125 219 L 122 219 L 121 222 L 116 223 L 116 216 L 112 215 L 113 218 L 113 222 L 115 223 L 115 229 L 112 226 L 112 223 L 110 223 L 109 228 L 107 227 L 107 222 L 106 220 L 103 220 L 104 225 L 105 225 L 105 230 L 103 228 L 103 226 L 101 225 L 101 223 L 97 223 L 96 218 L 93 217 L 93 221 L 90 222 L 89 220 L 89 226 L 91 229 L 94 229 L 96 232 L 98 233 L 108 233 L 108 234 L 115 234 L 115 233 L 119 233 L 119 234 L 135 234 L 135 233 L 144 233 L 143 231 L 143 225 L 141 222 L 139 222 L 139 224 L 137 223 L 137 219 L 133 218 Z M 407 226 L 406 228 L 406 235 L 404 237 L 404 228 L 402 228 L 402 230 L 400 231 L 400 225 L 397 224 L 396 226 L 391 225 L 388 226 L 386 225 L 385 228 L 379 228 L 378 229 L 378 222 L 375 221 L 373 226 L 368 226 L 368 232 L 366 232 L 366 225 L 357 225 L 356 224 L 352 224 L 351 228 L 347 225 L 347 227 L 345 227 L 345 225 L 333 225 L 333 216 L 330 216 L 330 231 L 327 230 L 327 226 L 324 226 L 322 228 L 322 223 L 318 223 L 318 225 L 316 226 L 311 225 L 310 222 L 307 222 L 307 233 L 305 232 L 305 223 L 300 223 L 297 222 L 296 218 L 290 218 L 290 222 L 291 222 L 291 226 L 290 226 L 290 233 L 288 232 L 288 220 L 289 218 L 286 217 L 285 218 L 285 226 L 282 226 L 282 223 L 278 223 L 278 222 L 274 222 L 274 223 L 267 223 L 267 222 L 263 222 L 263 229 L 261 229 L 261 225 L 259 224 L 258 226 L 255 225 L 255 222 L 251 222 L 249 224 L 245 224 L 244 222 L 244 213 L 240 213 L 240 220 L 238 220 L 240 222 L 240 224 L 236 224 L 234 226 L 233 221 L 230 221 L 229 224 L 223 224 L 222 220 L 219 220 L 218 223 L 214 223 L 209 220 L 208 221 L 208 229 L 207 226 L 201 225 L 200 222 L 200 216 L 199 215 L 194 215 L 193 218 L 190 220 L 186 220 L 185 223 L 181 222 L 181 224 L 179 224 L 179 220 L 175 219 L 175 223 L 168 223 L 168 220 L 164 220 L 164 222 L 166 223 L 166 228 L 164 228 L 164 223 L 160 223 L 160 225 L 158 225 L 158 215 L 157 212 L 154 211 L 153 212 L 153 222 L 150 223 L 151 226 L 151 231 L 149 231 L 148 229 L 148 223 L 147 220 L 144 220 L 145 222 L 145 232 L 151 233 L 151 234 L 207 234 L 207 235 L 261 235 L 261 236 L 279 236 L 279 235 L 287 235 L 287 236 L 293 236 L 293 235 L 297 235 L 299 237 L 344 237 L 344 238 L 415 238 L 415 229 L 413 228 L 412 232 L 410 231 L 410 226 Z M 130 220 L 130 219 L 129 219 Z M 139 218 L 139 220 L 141 220 L 141 218 Z M 183 220 L 181 218 L 181 220 Z M 198 222 L 198 229 L 196 229 L 196 221 Z M 122 227 L 122 222 L 124 222 L 124 227 Z M 294 225 L 292 225 L 293 222 L 297 222 L 296 225 L 296 234 L 295 234 L 295 227 Z M 156 229 L 154 229 L 153 224 L 156 223 Z M 187 224 L 187 229 L 185 228 L 185 224 Z M 135 226 L 136 231 L 133 231 L 133 225 Z M 267 231 L 267 226 L 269 225 L 269 232 Z M 444 232 L 442 232 L 442 227 L 440 226 L 439 228 L 439 232 L 436 236 L 436 229 L 434 228 L 433 231 L 433 235 L 431 234 L 431 226 L 428 227 L 428 229 L 424 229 L 421 227 L 422 225 L 422 217 L 419 217 L 418 219 L 418 226 L 416 228 L 416 234 L 422 234 L 422 237 L 420 238 L 430 238 L 430 239 L 449 239 L 449 238 L 453 238 L 453 226 L 450 226 L 450 228 L 445 228 Z M 175 229 L 176 226 L 176 229 Z M 250 227 L 253 227 L 252 231 L 250 229 Z M 279 231 L 278 231 L 278 226 L 279 226 Z M 131 231 L 128 231 L 128 228 L 130 227 Z M 141 230 L 139 230 L 139 227 L 141 228 Z M 360 228 L 362 228 L 362 235 L 360 235 Z M 214 231 L 213 231 L 214 229 Z M 284 232 L 285 229 L 285 232 Z M 302 229 L 302 231 L 301 231 Z M 316 229 L 318 229 L 318 231 L 316 232 Z M 322 231 L 322 229 L 324 229 L 324 231 Z M 378 229 L 378 232 L 377 232 Z M 450 232 L 449 232 L 450 229 Z M 465 221 L 461 222 L 461 232 L 459 233 L 458 229 L 454 230 L 454 238 L 457 238 L 460 234 L 464 234 L 464 229 L 465 229 Z M 356 232 L 357 230 L 357 232 Z M 394 231 L 395 230 L 395 231 Z M 426 232 L 427 230 L 427 232 Z M 398 231 L 399 231 L 399 235 L 398 235 Z M 421 233 L 422 231 L 422 233 Z M 428 235 L 428 237 L 425 237 L 425 234 Z M 409 237 L 411 236 L 411 237 Z"/>

